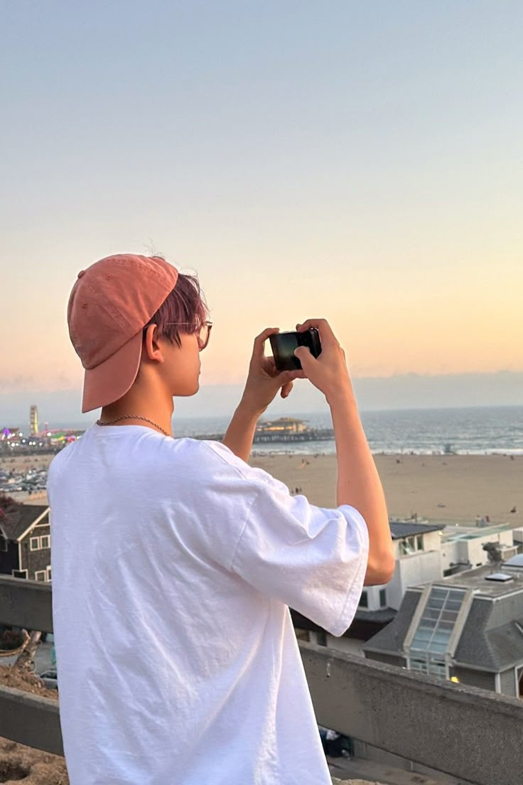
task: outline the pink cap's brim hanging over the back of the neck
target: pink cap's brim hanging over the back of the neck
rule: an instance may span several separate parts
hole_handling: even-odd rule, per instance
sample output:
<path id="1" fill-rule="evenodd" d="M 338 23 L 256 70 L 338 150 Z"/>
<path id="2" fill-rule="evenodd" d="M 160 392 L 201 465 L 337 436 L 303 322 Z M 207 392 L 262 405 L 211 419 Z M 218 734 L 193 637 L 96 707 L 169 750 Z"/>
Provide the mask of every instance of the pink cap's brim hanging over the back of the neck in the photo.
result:
<path id="1" fill-rule="evenodd" d="M 140 330 L 104 363 L 85 369 L 82 412 L 107 406 L 129 391 L 138 375 L 142 340 Z"/>

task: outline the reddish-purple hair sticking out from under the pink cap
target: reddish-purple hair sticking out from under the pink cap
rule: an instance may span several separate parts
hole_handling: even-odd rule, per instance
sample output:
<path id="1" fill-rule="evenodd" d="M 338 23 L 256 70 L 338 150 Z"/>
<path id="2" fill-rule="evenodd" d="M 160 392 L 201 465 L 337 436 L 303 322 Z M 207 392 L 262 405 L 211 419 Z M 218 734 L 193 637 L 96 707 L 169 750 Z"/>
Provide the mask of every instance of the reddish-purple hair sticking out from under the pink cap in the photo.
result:
<path id="1" fill-rule="evenodd" d="M 162 257 L 163 258 L 163 257 Z M 209 319 L 209 309 L 197 276 L 178 273 L 176 287 L 169 292 L 158 311 L 143 327 L 143 335 L 151 324 L 158 327 L 155 338 L 168 338 L 181 348 L 180 332 L 194 334 Z M 177 325 L 180 325 L 179 330 Z"/>

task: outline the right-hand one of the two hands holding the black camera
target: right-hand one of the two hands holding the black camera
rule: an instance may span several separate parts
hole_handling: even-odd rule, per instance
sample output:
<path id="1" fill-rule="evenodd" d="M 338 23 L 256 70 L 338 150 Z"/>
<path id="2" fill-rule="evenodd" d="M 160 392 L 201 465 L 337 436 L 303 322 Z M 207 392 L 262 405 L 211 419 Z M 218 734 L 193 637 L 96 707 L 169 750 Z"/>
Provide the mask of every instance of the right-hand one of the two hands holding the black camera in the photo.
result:
<path id="1" fill-rule="evenodd" d="M 294 350 L 295 356 L 300 360 L 303 373 L 314 387 L 324 393 L 328 403 L 339 396 L 354 397 L 345 352 L 332 332 L 329 322 L 326 319 L 307 319 L 303 324 L 296 324 L 299 333 L 309 330 L 310 327 L 318 329 L 321 354 L 318 358 L 313 357 L 307 346 L 298 346 Z"/>

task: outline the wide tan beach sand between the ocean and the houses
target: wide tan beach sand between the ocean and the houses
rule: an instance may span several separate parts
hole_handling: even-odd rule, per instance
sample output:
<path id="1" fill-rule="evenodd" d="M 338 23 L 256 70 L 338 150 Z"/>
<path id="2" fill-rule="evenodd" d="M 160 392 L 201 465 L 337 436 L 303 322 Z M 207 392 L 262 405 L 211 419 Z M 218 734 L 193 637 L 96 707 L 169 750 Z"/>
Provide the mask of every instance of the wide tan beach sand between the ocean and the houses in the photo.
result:
<path id="1" fill-rule="evenodd" d="M 16 458 L 4 467 L 27 471 L 48 466 L 52 458 Z M 474 525 L 477 516 L 488 515 L 492 524 L 523 526 L 521 455 L 374 455 L 374 460 L 392 518 L 417 513 L 431 522 Z M 289 488 L 300 487 L 315 505 L 336 506 L 335 455 L 253 455 L 249 463 Z M 14 496 L 31 501 L 25 494 Z M 33 503 L 45 504 L 45 495 Z M 514 506 L 518 512 L 510 513 Z"/>

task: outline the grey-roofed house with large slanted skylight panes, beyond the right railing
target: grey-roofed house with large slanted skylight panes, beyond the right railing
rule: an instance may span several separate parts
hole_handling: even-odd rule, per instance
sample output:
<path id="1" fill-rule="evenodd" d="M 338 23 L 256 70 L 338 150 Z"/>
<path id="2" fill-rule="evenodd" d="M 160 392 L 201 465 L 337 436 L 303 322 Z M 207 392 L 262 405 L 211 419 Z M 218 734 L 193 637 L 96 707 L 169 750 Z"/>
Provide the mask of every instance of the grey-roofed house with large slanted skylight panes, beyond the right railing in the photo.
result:
<path id="1" fill-rule="evenodd" d="M 523 698 L 523 561 L 410 586 L 365 657 Z"/>

